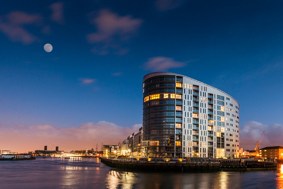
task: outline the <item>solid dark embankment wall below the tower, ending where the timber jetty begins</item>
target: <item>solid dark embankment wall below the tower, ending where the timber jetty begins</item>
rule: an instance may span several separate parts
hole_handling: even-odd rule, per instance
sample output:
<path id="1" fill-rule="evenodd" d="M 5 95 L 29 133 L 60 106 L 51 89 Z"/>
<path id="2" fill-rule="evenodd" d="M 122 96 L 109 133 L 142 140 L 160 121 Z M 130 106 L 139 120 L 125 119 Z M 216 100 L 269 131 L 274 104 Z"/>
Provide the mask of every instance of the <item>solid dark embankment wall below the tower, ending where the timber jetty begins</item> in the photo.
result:
<path id="1" fill-rule="evenodd" d="M 219 162 L 182 162 L 182 161 L 126 161 L 101 158 L 106 165 L 126 170 L 213 172 L 220 170 Z"/>

